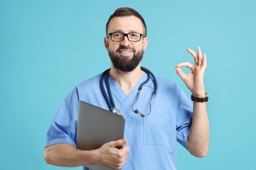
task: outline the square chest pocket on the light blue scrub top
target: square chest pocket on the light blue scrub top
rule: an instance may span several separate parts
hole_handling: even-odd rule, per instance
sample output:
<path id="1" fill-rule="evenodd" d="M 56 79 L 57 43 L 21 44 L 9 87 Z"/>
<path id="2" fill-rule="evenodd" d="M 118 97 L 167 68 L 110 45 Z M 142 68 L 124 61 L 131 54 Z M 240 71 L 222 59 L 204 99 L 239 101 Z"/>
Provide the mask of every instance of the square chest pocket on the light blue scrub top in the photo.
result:
<path id="1" fill-rule="evenodd" d="M 173 135 L 176 135 L 176 133 Z M 170 120 L 166 120 L 163 118 L 144 119 L 144 145 L 167 146 L 169 145 L 171 139 L 172 138 Z"/>

